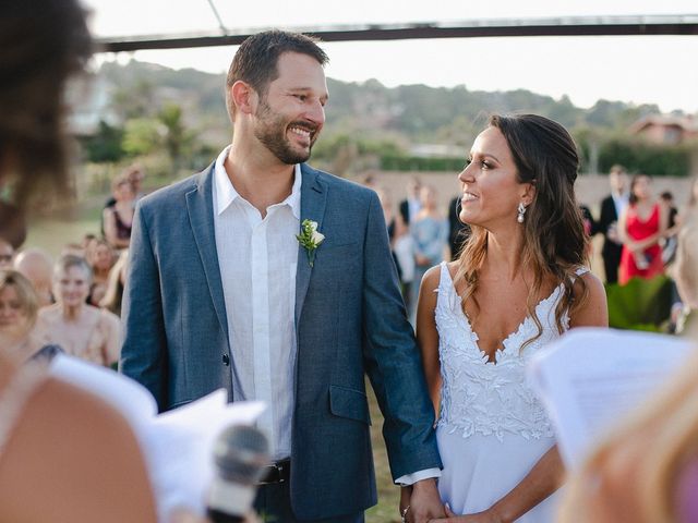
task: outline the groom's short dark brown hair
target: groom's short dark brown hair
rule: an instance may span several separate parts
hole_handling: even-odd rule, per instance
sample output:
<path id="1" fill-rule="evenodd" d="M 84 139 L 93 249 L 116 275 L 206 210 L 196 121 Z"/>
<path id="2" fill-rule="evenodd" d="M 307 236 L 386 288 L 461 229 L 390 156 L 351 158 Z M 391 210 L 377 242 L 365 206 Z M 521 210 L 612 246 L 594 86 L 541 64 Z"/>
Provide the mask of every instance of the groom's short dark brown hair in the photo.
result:
<path id="1" fill-rule="evenodd" d="M 300 33 L 278 29 L 265 31 L 246 38 L 236 52 L 226 78 L 226 107 L 230 119 L 234 113 L 234 104 L 230 97 L 232 84 L 241 80 L 264 97 L 269 83 L 278 77 L 277 63 L 282 53 L 308 54 L 323 66 L 329 61 L 317 41 L 316 38 Z"/>

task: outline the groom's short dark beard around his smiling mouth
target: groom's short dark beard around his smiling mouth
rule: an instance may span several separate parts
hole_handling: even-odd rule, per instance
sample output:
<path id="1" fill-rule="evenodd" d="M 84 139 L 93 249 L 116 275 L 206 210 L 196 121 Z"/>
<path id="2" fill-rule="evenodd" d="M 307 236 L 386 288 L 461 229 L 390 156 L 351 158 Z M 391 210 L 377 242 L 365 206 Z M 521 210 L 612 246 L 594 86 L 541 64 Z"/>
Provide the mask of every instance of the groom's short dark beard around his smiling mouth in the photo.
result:
<path id="1" fill-rule="evenodd" d="M 287 123 L 282 115 L 272 111 L 266 100 L 262 100 L 256 112 L 258 125 L 254 130 L 254 136 L 272 151 L 280 161 L 288 166 L 302 163 L 310 158 L 311 149 L 317 138 L 317 126 L 304 121 Z M 294 150 L 286 132 L 291 126 L 299 126 L 311 132 L 311 142 L 308 150 Z"/>

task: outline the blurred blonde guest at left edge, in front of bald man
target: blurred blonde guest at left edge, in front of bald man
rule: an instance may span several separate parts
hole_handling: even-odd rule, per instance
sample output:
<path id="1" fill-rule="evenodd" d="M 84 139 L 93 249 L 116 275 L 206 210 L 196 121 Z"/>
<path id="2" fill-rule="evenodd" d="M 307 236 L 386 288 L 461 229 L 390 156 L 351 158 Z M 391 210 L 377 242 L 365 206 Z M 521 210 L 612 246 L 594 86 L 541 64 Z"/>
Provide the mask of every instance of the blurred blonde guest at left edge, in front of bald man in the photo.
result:
<path id="1" fill-rule="evenodd" d="M 34 332 L 38 300 L 32 283 L 22 273 L 0 269 L 0 351 L 25 362 L 51 358 L 60 348 L 45 344 Z"/>

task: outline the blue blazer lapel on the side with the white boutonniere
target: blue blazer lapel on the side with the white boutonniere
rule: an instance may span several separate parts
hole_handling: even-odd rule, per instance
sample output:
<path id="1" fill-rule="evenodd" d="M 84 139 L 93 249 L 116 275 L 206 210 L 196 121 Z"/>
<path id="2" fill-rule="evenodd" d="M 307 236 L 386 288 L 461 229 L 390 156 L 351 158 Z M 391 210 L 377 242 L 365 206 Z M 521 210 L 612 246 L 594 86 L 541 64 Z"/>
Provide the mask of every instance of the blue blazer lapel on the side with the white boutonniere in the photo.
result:
<path id="1" fill-rule="evenodd" d="M 301 184 L 301 223 L 303 220 L 317 222 L 317 230 L 323 232 L 323 217 L 327 202 L 327 186 L 322 182 L 317 171 L 305 163 L 301 165 L 303 182 Z M 296 327 L 303 311 L 312 267 L 308 260 L 308 253 L 298 246 L 298 266 L 296 270 Z"/>

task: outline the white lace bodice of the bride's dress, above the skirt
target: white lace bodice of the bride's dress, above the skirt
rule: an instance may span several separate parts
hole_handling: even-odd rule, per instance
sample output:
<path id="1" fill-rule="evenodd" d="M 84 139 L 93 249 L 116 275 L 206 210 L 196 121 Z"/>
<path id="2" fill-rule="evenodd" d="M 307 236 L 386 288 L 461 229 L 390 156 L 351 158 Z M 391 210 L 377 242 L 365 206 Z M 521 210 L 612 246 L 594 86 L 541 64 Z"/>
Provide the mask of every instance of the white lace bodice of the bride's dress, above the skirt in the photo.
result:
<path id="1" fill-rule="evenodd" d="M 478 335 L 462 312 L 446 264 L 442 264 L 435 311 L 443 381 L 438 426 L 449 433 L 460 431 L 465 438 L 478 433 L 494 435 L 500 441 L 506 433 L 527 439 L 554 436 L 543 405 L 527 384 L 525 370 L 535 352 L 559 337 L 555 307 L 562 292 L 561 285 L 535 307 L 543 326 L 541 337 L 520 350 L 524 342 L 538 333 L 534 321 L 527 317 L 504 340 L 493 363 L 478 346 Z M 563 326 L 565 330 L 569 327 L 566 314 Z"/>

